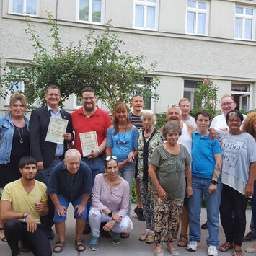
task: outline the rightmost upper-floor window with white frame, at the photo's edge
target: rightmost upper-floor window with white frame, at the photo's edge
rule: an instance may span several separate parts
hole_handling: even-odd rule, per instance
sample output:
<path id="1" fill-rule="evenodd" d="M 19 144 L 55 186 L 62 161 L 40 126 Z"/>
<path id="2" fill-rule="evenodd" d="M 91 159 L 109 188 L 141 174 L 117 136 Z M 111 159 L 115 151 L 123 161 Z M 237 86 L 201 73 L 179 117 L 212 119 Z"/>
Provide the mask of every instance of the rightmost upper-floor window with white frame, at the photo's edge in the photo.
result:
<path id="1" fill-rule="evenodd" d="M 236 6 L 234 38 L 252 40 L 255 37 L 252 8 Z"/>

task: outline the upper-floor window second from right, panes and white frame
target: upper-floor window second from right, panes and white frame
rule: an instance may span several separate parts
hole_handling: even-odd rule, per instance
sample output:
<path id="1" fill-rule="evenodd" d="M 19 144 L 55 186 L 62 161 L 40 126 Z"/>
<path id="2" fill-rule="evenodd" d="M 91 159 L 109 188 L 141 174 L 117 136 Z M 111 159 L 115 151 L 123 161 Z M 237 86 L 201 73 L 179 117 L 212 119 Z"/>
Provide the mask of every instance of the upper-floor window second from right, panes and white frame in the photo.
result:
<path id="1" fill-rule="evenodd" d="M 187 1 L 186 32 L 188 34 L 208 35 L 208 3 Z"/>

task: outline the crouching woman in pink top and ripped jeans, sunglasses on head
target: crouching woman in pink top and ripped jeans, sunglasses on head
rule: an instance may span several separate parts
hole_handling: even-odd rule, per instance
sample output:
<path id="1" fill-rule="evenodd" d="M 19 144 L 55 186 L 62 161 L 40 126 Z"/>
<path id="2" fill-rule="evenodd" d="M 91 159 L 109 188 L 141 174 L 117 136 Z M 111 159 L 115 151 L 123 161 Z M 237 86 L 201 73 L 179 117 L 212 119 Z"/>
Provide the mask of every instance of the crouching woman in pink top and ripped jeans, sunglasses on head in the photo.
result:
<path id="1" fill-rule="evenodd" d="M 118 160 L 107 156 L 104 174 L 95 177 L 92 189 L 92 207 L 89 211 L 89 224 L 92 229 L 92 240 L 89 249 L 98 250 L 100 224 L 107 222 L 103 229 L 109 231 L 113 244 L 120 244 L 119 233 L 128 233 L 133 223 L 128 217 L 129 184 L 118 175 Z"/>

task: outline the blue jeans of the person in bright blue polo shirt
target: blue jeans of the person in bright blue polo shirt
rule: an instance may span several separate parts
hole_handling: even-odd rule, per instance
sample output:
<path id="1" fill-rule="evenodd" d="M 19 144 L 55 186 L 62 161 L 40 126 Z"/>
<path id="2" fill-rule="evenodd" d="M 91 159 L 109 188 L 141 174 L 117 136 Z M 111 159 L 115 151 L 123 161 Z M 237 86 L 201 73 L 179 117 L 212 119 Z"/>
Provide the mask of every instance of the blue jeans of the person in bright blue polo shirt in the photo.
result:
<path id="1" fill-rule="evenodd" d="M 208 246 L 219 246 L 219 206 L 221 204 L 221 182 L 217 190 L 209 193 L 211 179 L 192 176 L 193 195 L 188 201 L 188 221 L 190 224 L 190 241 L 200 242 L 200 213 L 203 194 L 206 198 L 207 224 L 209 237 L 206 239 Z"/>

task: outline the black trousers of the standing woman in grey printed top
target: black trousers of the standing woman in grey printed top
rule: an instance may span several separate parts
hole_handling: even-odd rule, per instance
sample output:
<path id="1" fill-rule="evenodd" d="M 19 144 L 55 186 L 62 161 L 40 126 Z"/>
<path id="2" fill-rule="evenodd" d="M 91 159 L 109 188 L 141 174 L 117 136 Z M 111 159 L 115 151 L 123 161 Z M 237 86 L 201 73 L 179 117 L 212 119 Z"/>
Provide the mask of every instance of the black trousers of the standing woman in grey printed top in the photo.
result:
<path id="1" fill-rule="evenodd" d="M 247 198 L 244 195 L 234 190 L 234 188 L 223 184 L 219 211 L 226 242 L 234 242 L 238 246 L 242 245 L 246 225 L 246 206 Z M 234 214 L 234 219 L 232 218 L 232 214 Z"/>

